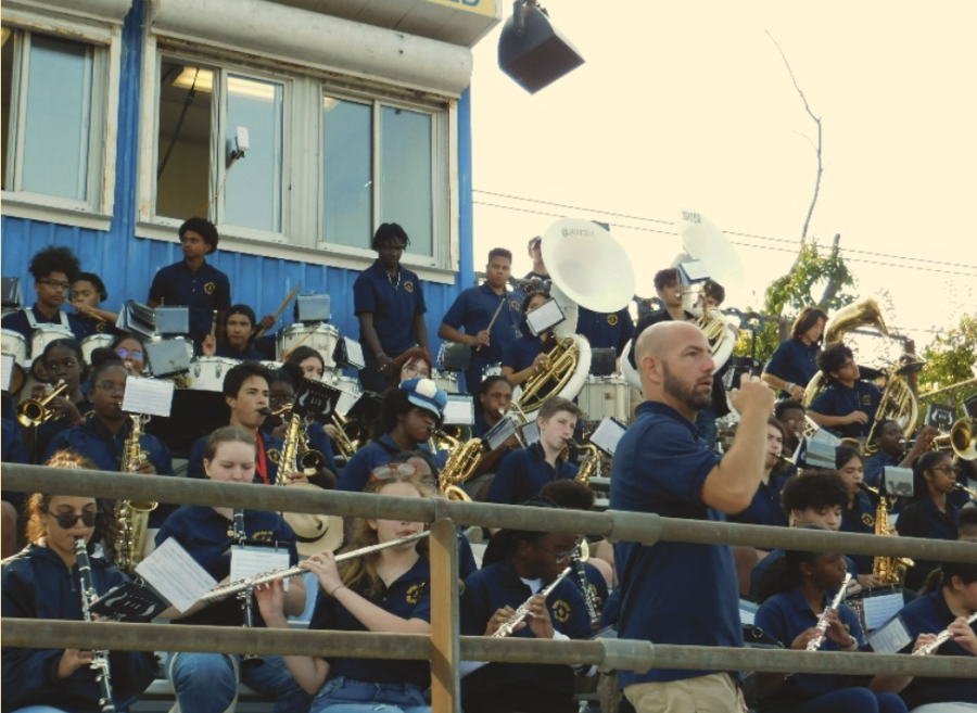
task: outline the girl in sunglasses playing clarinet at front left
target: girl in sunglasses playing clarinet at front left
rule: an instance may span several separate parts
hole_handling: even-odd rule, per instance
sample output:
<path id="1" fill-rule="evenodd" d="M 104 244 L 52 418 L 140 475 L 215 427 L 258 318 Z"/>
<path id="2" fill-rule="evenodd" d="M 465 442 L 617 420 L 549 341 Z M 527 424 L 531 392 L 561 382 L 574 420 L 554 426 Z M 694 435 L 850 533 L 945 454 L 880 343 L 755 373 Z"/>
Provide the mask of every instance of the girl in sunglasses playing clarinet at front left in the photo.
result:
<path id="1" fill-rule="evenodd" d="M 48 462 L 55 468 L 90 469 L 94 464 L 60 451 Z M 83 621 L 75 540 L 84 538 L 96 591 L 103 595 L 126 581 L 102 552 L 112 551 L 117 523 L 111 501 L 50 493 L 31 495 L 26 505 L 27 542 L 20 553 L 4 560 L 0 600 L 3 617 Z M 101 549 L 99 549 L 101 546 Z M 3 647 L 4 711 L 88 713 L 99 711 L 100 685 L 89 666 L 92 652 L 84 649 Z M 152 652 L 109 653 L 115 706 L 128 710 L 153 682 Z"/>

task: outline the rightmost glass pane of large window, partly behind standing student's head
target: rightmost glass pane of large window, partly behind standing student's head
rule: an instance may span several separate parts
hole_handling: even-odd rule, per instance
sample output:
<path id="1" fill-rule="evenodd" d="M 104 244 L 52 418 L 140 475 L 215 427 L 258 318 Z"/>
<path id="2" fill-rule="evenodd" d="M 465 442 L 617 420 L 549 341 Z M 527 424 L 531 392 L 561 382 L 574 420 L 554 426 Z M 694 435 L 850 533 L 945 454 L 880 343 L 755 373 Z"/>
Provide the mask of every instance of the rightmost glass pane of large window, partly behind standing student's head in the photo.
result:
<path id="1" fill-rule="evenodd" d="M 383 106 L 380 116 L 380 221 L 397 222 L 408 251 L 433 255 L 431 116 Z"/>

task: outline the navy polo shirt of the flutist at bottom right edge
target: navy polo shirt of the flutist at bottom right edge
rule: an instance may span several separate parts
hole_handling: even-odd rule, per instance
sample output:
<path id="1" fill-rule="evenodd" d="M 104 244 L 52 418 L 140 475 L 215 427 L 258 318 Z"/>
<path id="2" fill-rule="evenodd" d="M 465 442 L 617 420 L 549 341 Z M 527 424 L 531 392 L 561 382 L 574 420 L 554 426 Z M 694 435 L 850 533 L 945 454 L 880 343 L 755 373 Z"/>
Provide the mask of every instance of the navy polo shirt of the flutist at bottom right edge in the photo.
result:
<path id="1" fill-rule="evenodd" d="M 940 589 L 908 603 L 899 612 L 899 617 L 915 641 L 919 634 L 939 634 L 953 623 L 956 615 L 950 611 Z M 970 628 L 977 632 L 977 623 L 970 624 Z M 908 645 L 902 653 L 911 653 L 912 648 L 912 644 Z M 950 639 L 937 649 L 936 655 L 972 657 L 973 654 Z M 977 680 L 916 676 L 899 695 L 910 710 L 926 703 L 977 703 Z"/>

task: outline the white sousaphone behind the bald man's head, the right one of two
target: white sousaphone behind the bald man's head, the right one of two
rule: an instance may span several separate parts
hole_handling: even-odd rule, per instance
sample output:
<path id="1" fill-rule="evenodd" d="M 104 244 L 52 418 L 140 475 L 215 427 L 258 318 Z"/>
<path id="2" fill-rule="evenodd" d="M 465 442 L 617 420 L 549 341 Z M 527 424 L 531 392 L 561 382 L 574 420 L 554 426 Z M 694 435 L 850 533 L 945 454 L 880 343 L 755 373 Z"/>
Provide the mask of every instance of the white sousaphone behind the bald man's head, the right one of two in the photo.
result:
<path id="1" fill-rule="evenodd" d="M 682 238 L 683 252 L 672 260 L 672 267 L 699 260 L 709 278 L 723 285 L 727 292 L 743 289 L 746 284 L 743 263 L 722 230 L 701 213 L 686 209 L 680 212 L 676 226 Z M 705 306 L 698 304 L 700 294 L 698 289 L 687 289 L 683 303 L 685 310 L 698 318 L 698 326 L 706 332 L 718 371 L 733 355 L 733 345 L 739 336 L 739 321 L 735 317 L 726 317 L 718 309 L 705 314 Z M 624 354 L 631 354 L 631 349 L 632 345 L 629 342 L 624 347 Z M 640 392 L 642 378 L 631 366 L 630 359 L 621 359 L 621 370 L 627 383 Z"/>

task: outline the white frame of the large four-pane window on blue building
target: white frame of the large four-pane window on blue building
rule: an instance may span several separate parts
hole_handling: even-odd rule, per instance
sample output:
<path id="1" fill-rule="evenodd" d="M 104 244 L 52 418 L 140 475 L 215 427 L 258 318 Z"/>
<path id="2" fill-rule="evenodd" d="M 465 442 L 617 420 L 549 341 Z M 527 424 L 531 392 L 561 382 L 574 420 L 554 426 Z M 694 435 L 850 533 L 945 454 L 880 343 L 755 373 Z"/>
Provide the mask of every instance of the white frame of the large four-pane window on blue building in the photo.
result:
<path id="1" fill-rule="evenodd" d="M 269 78 L 287 85 L 283 116 L 282 232 L 268 233 L 237 226 L 217 225 L 220 249 L 265 257 L 290 259 L 312 265 L 363 270 L 377 258 L 371 250 L 363 250 L 320 240 L 323 231 L 322 201 L 322 98 L 350 99 L 360 102 L 395 105 L 432 115 L 432 175 L 434 187 L 433 257 L 404 255 L 403 264 L 424 280 L 453 284 L 459 268 L 457 100 L 436 98 L 414 102 L 406 98 L 410 90 L 366 82 L 355 77 L 337 78 L 315 67 L 282 68 L 282 63 L 263 62 L 253 55 L 196 43 L 161 38 L 151 31 L 145 36 L 142 76 L 139 188 L 136 234 L 140 238 L 177 241 L 181 220 L 155 215 L 155 166 L 157 165 L 160 68 L 163 59 L 185 60 L 191 64 L 212 66 L 226 73 Z M 221 101 L 221 105 L 224 102 Z M 223 107 L 221 107 L 223 111 Z M 377 109 L 373 109 L 376 112 Z M 373 141 L 378 140 L 373 130 Z M 212 139 L 213 142 L 213 139 Z M 379 152 L 373 151 L 375 164 Z M 246 155 L 243 161 L 246 161 Z M 373 176 L 377 174 L 375 165 Z M 220 177 L 224 173 L 221 170 Z M 219 183 L 218 183 L 219 184 Z M 379 226 L 379 202 L 373 201 L 373 222 Z M 187 216 L 190 217 L 190 216 Z"/>

